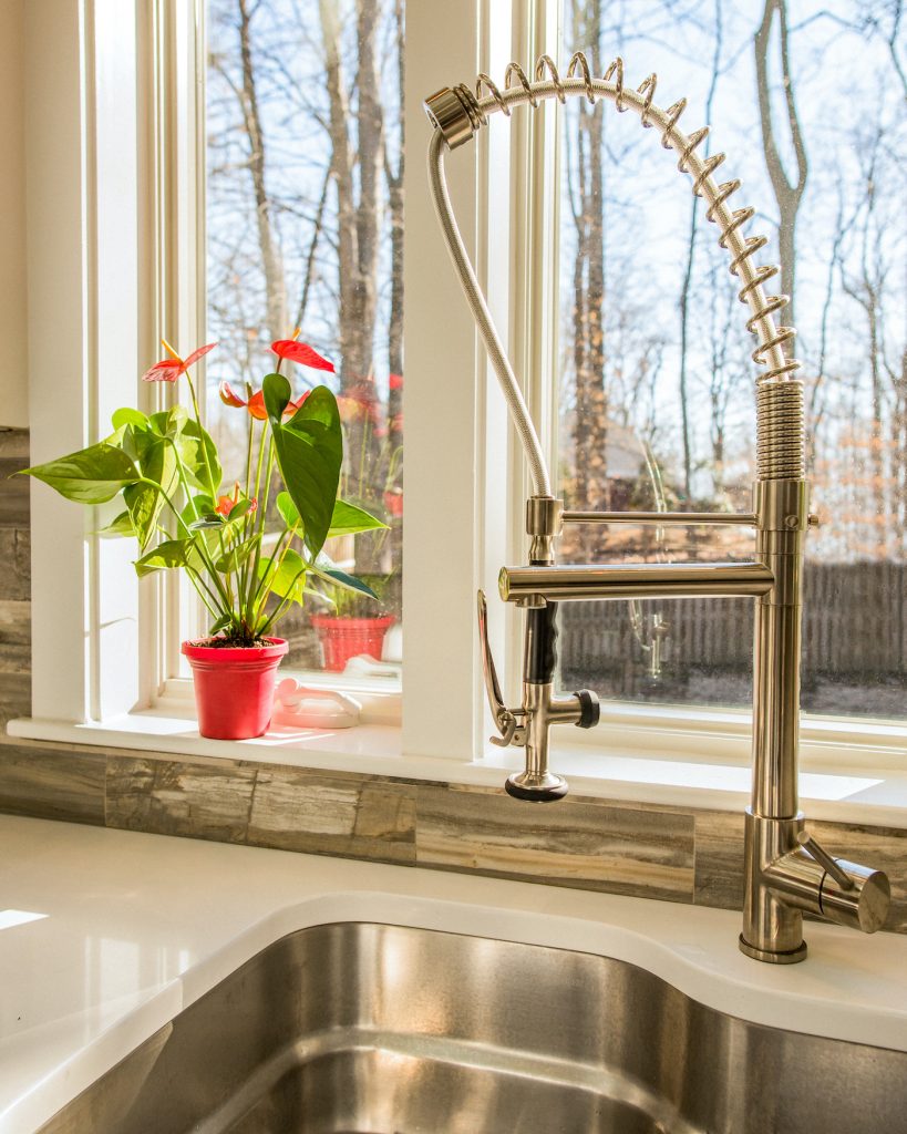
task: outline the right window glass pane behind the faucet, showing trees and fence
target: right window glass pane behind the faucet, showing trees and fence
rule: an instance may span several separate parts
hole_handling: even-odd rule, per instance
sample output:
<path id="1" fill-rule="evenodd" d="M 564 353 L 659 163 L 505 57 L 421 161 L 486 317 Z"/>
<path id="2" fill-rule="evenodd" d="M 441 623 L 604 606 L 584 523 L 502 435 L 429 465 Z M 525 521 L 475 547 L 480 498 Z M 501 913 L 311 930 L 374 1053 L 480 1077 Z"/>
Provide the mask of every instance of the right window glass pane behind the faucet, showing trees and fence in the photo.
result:
<path id="1" fill-rule="evenodd" d="M 703 149 L 727 152 L 720 179 L 743 180 L 731 203 L 753 205 L 745 231 L 768 237 L 757 262 L 782 264 L 769 290 L 791 296 L 782 321 L 799 332 L 822 518 L 804 608 L 803 705 L 819 713 L 907 714 L 907 64 L 896 7 L 565 0 L 561 11 L 565 58 L 582 49 L 601 75 L 620 54 L 634 87 L 658 73 L 659 105 L 688 100 L 687 134 L 711 125 Z M 715 227 L 636 113 L 574 99 L 562 137 L 567 506 L 752 510 L 755 344 Z M 730 527 L 574 527 L 561 541 L 577 562 L 752 552 L 748 530 Z M 566 603 L 562 627 L 568 688 L 749 702 L 748 600 Z"/>

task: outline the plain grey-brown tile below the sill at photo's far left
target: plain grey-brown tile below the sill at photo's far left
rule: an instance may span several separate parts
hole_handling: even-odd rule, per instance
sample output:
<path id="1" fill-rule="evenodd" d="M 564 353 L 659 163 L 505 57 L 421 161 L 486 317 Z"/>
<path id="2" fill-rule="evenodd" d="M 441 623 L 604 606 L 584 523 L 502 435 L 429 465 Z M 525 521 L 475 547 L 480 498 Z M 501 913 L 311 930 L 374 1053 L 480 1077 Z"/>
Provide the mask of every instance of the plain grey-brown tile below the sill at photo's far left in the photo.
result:
<path id="1" fill-rule="evenodd" d="M 0 811 L 102 827 L 104 764 L 100 752 L 0 745 Z"/>

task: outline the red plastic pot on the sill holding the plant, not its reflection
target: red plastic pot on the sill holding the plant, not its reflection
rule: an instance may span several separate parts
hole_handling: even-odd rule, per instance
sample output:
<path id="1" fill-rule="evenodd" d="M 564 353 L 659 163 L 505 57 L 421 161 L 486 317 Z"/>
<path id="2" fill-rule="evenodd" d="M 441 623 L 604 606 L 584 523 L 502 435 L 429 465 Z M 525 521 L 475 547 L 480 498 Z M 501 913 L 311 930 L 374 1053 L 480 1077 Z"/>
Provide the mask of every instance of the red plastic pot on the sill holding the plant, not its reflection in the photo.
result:
<path id="1" fill-rule="evenodd" d="M 198 731 L 212 741 L 263 736 L 274 708 L 274 675 L 288 646 L 266 638 L 262 646 L 212 646 L 184 642 L 192 666 Z"/>

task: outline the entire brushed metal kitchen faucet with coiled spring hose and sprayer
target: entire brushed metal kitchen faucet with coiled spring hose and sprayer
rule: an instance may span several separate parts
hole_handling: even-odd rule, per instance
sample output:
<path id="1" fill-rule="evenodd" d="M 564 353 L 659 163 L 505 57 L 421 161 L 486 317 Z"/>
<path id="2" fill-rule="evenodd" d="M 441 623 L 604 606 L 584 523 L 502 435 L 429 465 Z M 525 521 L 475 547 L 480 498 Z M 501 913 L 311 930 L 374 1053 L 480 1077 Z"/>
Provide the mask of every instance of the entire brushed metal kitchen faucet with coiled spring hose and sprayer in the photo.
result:
<path id="1" fill-rule="evenodd" d="M 507 792 L 536 803 L 560 799 L 567 782 L 548 767 L 550 730 L 556 725 L 592 728 L 599 721 L 599 701 L 588 689 L 571 696 L 554 695 L 558 604 L 599 599 L 753 598 L 753 796 L 746 810 L 740 949 L 756 960 L 791 964 L 806 956 L 804 913 L 873 933 L 888 913 L 889 883 L 880 871 L 833 858 L 804 830 L 797 803 L 800 608 L 804 542 L 815 518 L 808 511 L 803 383 L 795 376 L 799 363 L 788 358 L 783 349 L 795 331 L 777 327 L 773 318 L 787 297 L 766 296 L 763 290 L 778 268 L 753 263 L 754 254 L 766 244 L 765 237 L 741 232 L 754 210 L 728 205 L 740 183 L 714 179 L 724 154 L 704 156 L 696 152 L 707 127 L 684 134 L 677 122 L 686 100 L 662 110 L 654 102 L 656 84 L 656 77 L 650 75 L 636 90 L 626 86 L 619 58 L 602 78 L 593 77 L 586 58 L 577 52 L 565 78 L 552 60 L 542 56 L 532 83 L 523 68 L 511 62 L 503 90 L 488 75 L 480 75 L 475 91 L 459 84 L 439 91 L 425 103 L 434 126 L 429 177 L 435 211 L 533 481 L 533 494 L 526 502 L 528 566 L 505 567 L 499 578 L 501 599 L 526 611 L 523 704 L 509 709 L 501 696 L 489 649 L 485 598 L 480 591 L 485 687 L 501 734 L 494 742 L 526 750 L 525 770 L 510 776 Z M 444 154 L 469 142 L 488 125 L 490 115 L 509 117 L 514 107 L 528 103 L 535 109 L 542 100 L 554 98 L 561 103 L 568 98 L 585 98 L 590 103 L 605 99 L 618 111 L 635 111 L 644 127 L 655 127 L 664 149 L 679 155 L 677 168 L 692 179 L 693 192 L 706 202 L 706 218 L 718 226 L 719 244 L 730 256 L 730 271 L 741 282 L 740 301 L 749 308 L 746 325 L 757 340 L 753 361 L 764 367 L 756 379 L 757 480 L 752 514 L 566 511 L 552 494 L 537 434 L 454 219 Z M 755 556 L 752 562 L 729 564 L 559 565 L 556 545 L 566 524 L 737 524 L 755 528 Z"/>

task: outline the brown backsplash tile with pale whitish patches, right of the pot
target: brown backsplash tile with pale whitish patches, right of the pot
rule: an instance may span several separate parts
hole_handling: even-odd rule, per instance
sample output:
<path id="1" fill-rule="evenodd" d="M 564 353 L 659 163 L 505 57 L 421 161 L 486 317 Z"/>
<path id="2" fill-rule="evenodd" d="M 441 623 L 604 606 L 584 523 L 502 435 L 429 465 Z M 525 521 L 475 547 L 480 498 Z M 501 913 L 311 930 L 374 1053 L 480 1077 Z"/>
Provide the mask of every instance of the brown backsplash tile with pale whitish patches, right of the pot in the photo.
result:
<path id="1" fill-rule="evenodd" d="M 248 841 L 380 862 L 415 861 L 415 793 L 368 777 L 258 768 Z"/>

